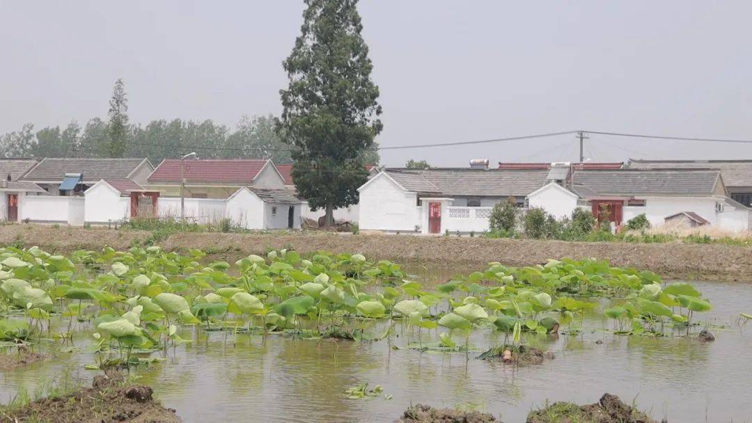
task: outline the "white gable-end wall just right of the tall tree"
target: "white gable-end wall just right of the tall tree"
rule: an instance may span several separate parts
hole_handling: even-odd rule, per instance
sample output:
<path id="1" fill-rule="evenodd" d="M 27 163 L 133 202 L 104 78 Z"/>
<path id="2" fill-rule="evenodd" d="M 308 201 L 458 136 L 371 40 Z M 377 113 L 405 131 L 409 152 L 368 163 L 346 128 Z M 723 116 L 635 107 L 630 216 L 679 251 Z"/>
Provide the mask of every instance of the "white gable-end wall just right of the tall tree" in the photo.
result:
<path id="1" fill-rule="evenodd" d="M 358 224 L 363 230 L 414 232 L 421 225 L 417 194 L 405 192 L 386 174 L 379 174 L 360 190 Z"/>

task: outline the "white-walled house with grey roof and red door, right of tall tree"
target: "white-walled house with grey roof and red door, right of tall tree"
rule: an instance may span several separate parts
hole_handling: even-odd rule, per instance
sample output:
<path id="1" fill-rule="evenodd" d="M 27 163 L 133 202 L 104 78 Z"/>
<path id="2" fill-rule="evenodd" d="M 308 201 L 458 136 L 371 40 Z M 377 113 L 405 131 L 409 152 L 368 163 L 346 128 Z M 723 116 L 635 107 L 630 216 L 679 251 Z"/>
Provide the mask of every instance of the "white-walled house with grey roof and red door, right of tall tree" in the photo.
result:
<path id="1" fill-rule="evenodd" d="M 513 197 L 522 207 L 547 174 L 545 169 L 387 168 L 358 189 L 359 226 L 419 234 L 488 231 L 495 204 Z"/>

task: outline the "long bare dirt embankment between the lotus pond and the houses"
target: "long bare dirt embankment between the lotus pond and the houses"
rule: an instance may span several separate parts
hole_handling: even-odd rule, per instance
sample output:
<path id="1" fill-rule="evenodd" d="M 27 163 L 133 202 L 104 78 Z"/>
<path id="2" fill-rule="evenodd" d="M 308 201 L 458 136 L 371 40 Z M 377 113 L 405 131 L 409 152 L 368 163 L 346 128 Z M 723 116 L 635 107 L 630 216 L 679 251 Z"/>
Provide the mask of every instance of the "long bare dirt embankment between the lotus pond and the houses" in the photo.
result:
<path id="1" fill-rule="evenodd" d="M 102 228 L 54 228 L 43 225 L 0 226 L 0 244 L 23 243 L 68 252 L 108 245 L 127 249 L 143 243 L 148 232 Z M 292 248 L 299 252 L 361 252 L 369 258 L 402 263 L 420 261 L 442 266 L 482 266 L 489 261 L 523 266 L 547 258 L 605 258 L 615 266 L 653 270 L 670 279 L 752 279 L 752 247 L 726 244 L 684 243 L 582 243 L 566 241 L 508 240 L 482 237 L 418 237 L 411 235 L 311 233 L 186 233 L 159 243 L 165 249 L 201 248 L 239 257 L 268 249 Z"/>

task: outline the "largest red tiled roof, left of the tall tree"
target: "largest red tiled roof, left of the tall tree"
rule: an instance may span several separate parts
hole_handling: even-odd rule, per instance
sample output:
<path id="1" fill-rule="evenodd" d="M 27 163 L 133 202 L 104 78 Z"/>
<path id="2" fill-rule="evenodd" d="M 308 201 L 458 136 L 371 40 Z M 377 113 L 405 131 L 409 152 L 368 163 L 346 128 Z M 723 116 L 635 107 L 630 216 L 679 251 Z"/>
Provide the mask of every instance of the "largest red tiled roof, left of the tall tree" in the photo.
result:
<path id="1" fill-rule="evenodd" d="M 253 182 L 268 160 L 262 159 L 165 159 L 149 176 L 150 183 L 180 183 L 181 162 L 185 165 L 186 182 L 239 183 Z"/>

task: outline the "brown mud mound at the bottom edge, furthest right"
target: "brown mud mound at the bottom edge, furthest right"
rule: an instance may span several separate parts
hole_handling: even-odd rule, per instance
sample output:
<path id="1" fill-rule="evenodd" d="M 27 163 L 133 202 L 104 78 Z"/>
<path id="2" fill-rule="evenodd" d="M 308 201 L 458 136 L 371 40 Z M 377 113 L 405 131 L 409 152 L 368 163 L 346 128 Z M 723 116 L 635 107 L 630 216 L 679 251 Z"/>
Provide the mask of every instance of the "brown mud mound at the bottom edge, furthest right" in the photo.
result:
<path id="1" fill-rule="evenodd" d="M 658 423 L 644 412 L 626 405 L 616 395 L 603 394 L 594 404 L 553 403 L 527 415 L 526 423 Z M 663 420 L 662 423 L 667 423 Z"/>

